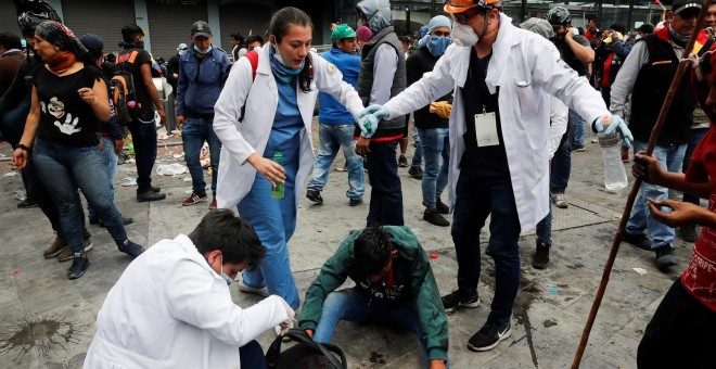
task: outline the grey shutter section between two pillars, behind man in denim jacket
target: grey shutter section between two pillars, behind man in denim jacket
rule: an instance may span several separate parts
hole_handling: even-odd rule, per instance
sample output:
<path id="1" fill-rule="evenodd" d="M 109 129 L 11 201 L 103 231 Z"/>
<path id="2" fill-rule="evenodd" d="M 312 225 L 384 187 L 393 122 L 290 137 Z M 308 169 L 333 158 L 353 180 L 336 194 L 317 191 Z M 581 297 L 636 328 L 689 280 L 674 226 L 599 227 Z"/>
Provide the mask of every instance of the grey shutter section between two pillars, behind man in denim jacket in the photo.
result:
<path id="1" fill-rule="evenodd" d="M 191 25 L 196 21 L 207 21 L 206 0 L 197 0 L 193 5 L 159 2 L 146 0 L 152 56 L 169 60 L 177 53 L 177 44 L 191 43 Z M 209 26 L 216 25 L 209 24 Z"/>

